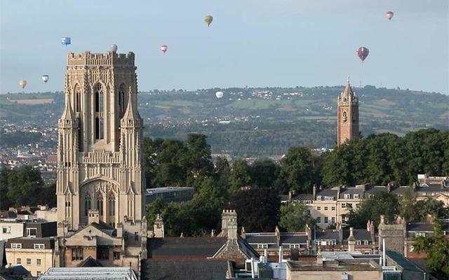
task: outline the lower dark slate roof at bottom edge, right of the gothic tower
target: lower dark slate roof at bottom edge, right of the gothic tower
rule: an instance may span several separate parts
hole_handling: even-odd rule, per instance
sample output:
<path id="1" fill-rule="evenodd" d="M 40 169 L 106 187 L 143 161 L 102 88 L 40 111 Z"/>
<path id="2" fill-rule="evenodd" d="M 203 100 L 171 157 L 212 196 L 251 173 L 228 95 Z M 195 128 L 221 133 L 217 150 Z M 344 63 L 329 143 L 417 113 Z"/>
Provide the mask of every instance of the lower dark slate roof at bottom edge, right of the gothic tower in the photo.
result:
<path id="1" fill-rule="evenodd" d="M 142 280 L 225 280 L 227 260 L 143 260 Z"/>

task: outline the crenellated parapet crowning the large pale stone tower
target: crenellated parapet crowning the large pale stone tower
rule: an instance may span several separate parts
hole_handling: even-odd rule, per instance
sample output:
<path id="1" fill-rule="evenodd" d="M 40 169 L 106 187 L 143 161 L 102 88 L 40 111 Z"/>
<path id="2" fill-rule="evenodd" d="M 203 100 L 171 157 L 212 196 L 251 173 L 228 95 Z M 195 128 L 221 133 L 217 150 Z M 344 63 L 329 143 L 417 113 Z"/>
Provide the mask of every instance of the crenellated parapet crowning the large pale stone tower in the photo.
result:
<path id="1" fill-rule="evenodd" d="M 127 66 L 134 67 L 134 52 L 67 53 L 67 66 Z"/>

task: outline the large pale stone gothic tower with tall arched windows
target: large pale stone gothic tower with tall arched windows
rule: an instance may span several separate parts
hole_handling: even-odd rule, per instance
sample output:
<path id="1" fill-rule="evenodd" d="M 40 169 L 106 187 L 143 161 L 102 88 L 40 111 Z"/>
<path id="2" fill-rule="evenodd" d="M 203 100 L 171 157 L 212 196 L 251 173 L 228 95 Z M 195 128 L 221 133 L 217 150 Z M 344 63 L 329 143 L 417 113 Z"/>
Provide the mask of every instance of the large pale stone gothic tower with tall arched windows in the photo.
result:
<path id="1" fill-rule="evenodd" d="M 87 225 L 90 210 L 112 228 L 144 215 L 135 69 L 133 52 L 67 55 L 56 190 L 65 232 Z"/>

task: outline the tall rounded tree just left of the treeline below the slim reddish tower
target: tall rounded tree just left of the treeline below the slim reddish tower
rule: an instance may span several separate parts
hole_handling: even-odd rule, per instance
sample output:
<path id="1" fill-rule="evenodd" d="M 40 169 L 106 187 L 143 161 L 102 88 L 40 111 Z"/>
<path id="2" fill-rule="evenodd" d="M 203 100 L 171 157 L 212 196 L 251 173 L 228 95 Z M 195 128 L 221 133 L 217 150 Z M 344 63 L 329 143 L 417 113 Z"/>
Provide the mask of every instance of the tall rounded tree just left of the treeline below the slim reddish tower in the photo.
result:
<path id="1" fill-rule="evenodd" d="M 281 160 L 281 176 L 290 190 L 307 192 L 314 183 L 314 165 L 309 149 L 290 147 Z"/>

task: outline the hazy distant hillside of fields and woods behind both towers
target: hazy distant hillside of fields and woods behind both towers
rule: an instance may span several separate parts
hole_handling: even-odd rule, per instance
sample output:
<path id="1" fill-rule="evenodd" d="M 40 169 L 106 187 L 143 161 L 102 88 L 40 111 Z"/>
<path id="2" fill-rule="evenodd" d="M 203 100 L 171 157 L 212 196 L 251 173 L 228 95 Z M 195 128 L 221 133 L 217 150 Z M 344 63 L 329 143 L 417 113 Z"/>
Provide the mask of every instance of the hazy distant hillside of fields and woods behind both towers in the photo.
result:
<path id="1" fill-rule="evenodd" d="M 279 155 L 288 146 L 335 144 L 336 106 L 342 86 L 257 87 L 140 92 L 145 134 L 184 138 L 208 134 L 214 153 Z M 224 97 L 217 99 L 221 90 Z M 449 130 L 449 96 L 435 92 L 376 88 L 355 89 L 360 100 L 361 133 L 435 127 Z M 62 92 L 1 94 L 0 120 L 55 126 L 62 113 Z"/>

